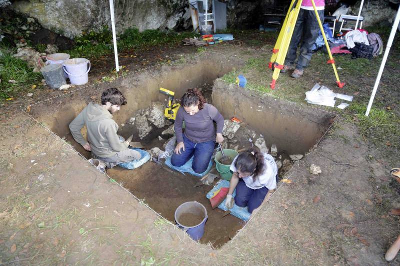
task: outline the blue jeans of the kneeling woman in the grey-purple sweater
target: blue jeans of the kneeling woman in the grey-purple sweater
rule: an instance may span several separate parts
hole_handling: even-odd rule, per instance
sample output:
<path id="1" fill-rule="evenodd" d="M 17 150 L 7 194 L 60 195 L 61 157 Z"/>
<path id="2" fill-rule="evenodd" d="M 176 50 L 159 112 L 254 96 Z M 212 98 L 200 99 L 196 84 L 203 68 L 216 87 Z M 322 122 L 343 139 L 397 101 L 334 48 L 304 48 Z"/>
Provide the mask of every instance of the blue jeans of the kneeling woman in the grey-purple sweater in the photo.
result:
<path id="1" fill-rule="evenodd" d="M 171 157 L 171 164 L 177 167 L 182 166 L 190 160 L 191 156 L 194 154 L 191 168 L 198 174 L 204 172 L 214 152 L 215 141 L 194 143 L 183 134 L 183 144 L 184 151 L 181 149 L 181 154 L 176 154 L 174 152 Z"/>

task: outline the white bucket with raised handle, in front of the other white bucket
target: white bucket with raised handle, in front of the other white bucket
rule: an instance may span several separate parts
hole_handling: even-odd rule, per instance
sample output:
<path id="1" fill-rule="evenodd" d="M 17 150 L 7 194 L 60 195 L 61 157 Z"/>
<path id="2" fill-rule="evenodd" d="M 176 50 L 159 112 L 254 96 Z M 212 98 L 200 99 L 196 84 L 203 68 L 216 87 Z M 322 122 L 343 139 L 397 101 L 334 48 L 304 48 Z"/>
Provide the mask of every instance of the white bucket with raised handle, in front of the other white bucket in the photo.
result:
<path id="1" fill-rule="evenodd" d="M 73 58 L 65 60 L 62 64 L 65 73 L 68 74 L 69 82 L 73 85 L 86 84 L 87 73 L 90 70 L 90 61 L 86 58 Z"/>

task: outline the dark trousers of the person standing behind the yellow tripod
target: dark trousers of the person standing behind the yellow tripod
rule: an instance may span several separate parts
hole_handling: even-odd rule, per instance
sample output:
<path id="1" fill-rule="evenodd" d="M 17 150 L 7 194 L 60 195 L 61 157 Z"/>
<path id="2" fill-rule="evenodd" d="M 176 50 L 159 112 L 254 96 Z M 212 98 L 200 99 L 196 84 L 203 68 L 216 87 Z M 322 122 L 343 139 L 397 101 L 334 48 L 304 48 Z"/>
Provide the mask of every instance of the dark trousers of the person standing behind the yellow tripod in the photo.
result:
<path id="1" fill-rule="evenodd" d="M 323 23 L 323 10 L 318 10 L 319 19 Z M 311 47 L 318 37 L 319 25 L 315 17 L 314 10 L 306 10 L 300 8 L 296 25 L 294 27 L 293 35 L 287 50 L 285 65 L 292 65 L 296 60 L 297 46 L 300 43 L 300 54 L 297 58 L 296 69 L 303 70 L 308 66 L 311 60 L 312 50 Z"/>

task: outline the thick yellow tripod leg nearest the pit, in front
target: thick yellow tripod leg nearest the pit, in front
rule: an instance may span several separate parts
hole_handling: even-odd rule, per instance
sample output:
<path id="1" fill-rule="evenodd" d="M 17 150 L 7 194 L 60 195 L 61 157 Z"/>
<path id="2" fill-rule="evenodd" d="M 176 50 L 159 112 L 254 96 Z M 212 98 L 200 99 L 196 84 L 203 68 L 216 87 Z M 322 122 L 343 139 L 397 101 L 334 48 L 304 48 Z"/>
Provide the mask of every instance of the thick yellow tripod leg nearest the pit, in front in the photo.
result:
<path id="1" fill-rule="evenodd" d="M 286 58 L 287 49 L 289 48 L 291 36 L 293 35 L 294 27 L 296 25 L 296 20 L 298 16 L 298 12 L 300 11 L 302 0 L 298 0 L 295 8 L 293 8 L 289 17 L 287 18 L 287 24 L 284 28 L 282 42 L 279 47 L 279 51 L 276 56 L 276 60 L 274 62 L 274 69 L 272 74 L 272 82 L 270 83 L 271 89 L 275 88 L 275 82 L 279 77 L 280 70 L 283 68 L 284 60 Z"/>

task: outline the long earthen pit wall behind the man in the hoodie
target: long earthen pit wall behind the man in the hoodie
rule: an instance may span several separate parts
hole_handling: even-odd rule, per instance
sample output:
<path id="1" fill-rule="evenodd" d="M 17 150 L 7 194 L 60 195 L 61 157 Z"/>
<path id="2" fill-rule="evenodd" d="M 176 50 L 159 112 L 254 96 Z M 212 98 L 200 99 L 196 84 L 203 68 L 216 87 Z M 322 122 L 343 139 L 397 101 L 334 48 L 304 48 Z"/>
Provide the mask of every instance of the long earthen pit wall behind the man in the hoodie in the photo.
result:
<path id="1" fill-rule="evenodd" d="M 154 67 L 138 74 L 93 84 L 75 92 L 32 104 L 30 113 L 56 135 L 71 142 L 79 153 L 88 157 L 88 152 L 73 140 L 68 124 L 90 101 L 100 102 L 101 93 L 105 89 L 118 88 L 126 97 L 127 104 L 113 115 L 115 122 L 120 125 L 125 123 L 136 110 L 147 108 L 152 102 L 166 103 L 168 96 L 159 92 L 160 87 L 175 92 L 175 98 L 179 99 L 186 89 L 200 87 L 204 83 L 212 84 L 215 79 L 233 68 L 240 68 L 242 63 L 239 59 L 227 59 L 221 55 L 215 55 L 212 59 L 204 56 L 190 60 L 182 59 L 182 63 L 176 65 Z M 82 129 L 82 134 L 85 135 L 85 128 Z"/>

